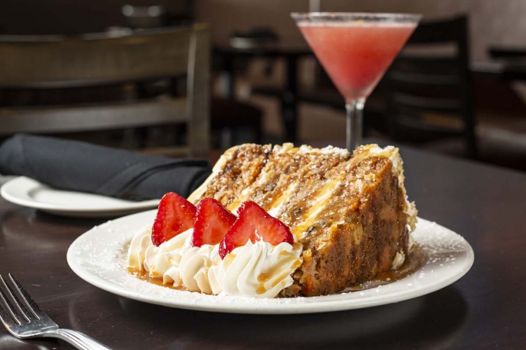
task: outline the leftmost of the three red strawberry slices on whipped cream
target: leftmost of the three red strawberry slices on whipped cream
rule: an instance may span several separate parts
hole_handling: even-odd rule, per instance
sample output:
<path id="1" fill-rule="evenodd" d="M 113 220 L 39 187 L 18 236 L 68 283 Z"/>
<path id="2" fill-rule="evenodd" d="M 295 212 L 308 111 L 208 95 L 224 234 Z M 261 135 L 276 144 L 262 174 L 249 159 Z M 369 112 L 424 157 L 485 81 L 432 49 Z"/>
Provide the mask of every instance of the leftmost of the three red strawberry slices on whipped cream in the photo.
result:
<path id="1" fill-rule="evenodd" d="M 161 198 L 151 241 L 156 246 L 194 227 L 196 207 L 176 193 L 168 192 Z"/>

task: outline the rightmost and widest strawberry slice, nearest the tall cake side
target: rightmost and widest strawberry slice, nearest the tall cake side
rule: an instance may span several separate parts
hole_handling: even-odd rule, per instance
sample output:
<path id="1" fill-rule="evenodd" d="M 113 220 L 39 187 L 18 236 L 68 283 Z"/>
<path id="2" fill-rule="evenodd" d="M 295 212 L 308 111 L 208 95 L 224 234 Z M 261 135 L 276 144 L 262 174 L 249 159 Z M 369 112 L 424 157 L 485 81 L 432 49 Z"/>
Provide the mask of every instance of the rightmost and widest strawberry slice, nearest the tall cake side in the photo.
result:
<path id="1" fill-rule="evenodd" d="M 254 201 L 243 203 L 237 214 L 238 218 L 219 246 L 221 259 L 235 248 L 244 246 L 249 239 L 252 243 L 262 240 L 275 246 L 282 242 L 294 244 L 294 238 L 287 225 L 270 216 Z"/>

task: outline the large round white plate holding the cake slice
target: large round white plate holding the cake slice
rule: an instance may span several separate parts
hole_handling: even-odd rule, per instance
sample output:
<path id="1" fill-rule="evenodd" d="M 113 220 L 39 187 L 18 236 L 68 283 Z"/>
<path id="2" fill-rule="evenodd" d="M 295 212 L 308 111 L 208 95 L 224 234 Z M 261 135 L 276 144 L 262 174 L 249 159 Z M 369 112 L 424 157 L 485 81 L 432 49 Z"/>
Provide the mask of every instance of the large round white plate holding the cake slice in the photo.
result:
<path id="1" fill-rule="evenodd" d="M 126 270 L 126 248 L 136 231 L 151 225 L 155 210 L 108 221 L 78 237 L 67 252 L 69 267 L 110 293 L 147 303 L 201 311 L 248 314 L 328 312 L 395 303 L 439 290 L 473 264 L 473 250 L 455 232 L 419 218 L 413 238 L 426 253 L 424 265 L 381 287 L 311 298 L 259 299 L 179 291 L 140 280 Z"/>

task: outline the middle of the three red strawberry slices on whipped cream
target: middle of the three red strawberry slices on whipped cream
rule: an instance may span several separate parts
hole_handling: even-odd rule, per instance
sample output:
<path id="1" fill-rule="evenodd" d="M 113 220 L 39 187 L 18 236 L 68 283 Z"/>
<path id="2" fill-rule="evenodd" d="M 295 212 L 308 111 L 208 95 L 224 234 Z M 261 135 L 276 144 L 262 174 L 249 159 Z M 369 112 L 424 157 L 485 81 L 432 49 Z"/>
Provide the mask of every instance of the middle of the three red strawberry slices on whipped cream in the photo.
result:
<path id="1" fill-rule="evenodd" d="M 236 221 L 236 216 L 214 198 L 205 198 L 197 205 L 192 245 L 216 245 Z"/>

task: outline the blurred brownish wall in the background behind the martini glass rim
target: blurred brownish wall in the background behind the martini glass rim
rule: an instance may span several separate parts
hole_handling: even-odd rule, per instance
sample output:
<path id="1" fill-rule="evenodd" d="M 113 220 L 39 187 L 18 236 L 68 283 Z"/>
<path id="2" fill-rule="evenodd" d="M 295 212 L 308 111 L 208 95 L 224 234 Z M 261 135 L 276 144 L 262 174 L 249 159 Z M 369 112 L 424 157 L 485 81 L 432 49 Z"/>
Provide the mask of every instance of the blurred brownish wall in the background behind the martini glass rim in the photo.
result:
<path id="1" fill-rule="evenodd" d="M 198 0 L 196 16 L 213 24 L 214 39 L 226 40 L 234 29 L 272 25 L 284 40 L 301 40 L 289 12 L 307 11 L 306 0 Z M 486 60 L 489 45 L 524 45 L 524 0 L 321 0 L 322 11 L 412 12 L 424 16 L 458 13 L 470 18 L 473 60 Z M 229 18 L 230 20 L 225 20 Z M 474 35 L 477 34 L 477 35 Z"/>

